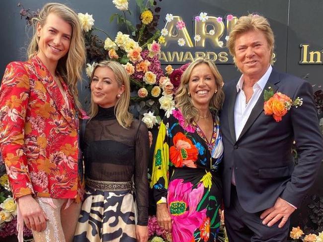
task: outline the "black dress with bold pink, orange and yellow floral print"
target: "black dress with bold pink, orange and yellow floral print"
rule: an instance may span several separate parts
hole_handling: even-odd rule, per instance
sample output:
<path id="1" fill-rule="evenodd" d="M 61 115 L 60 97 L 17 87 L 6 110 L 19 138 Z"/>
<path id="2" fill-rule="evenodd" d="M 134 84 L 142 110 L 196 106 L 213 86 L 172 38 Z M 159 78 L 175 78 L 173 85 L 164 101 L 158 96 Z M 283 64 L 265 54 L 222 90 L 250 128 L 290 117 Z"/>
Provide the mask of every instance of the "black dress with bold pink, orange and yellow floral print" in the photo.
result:
<path id="1" fill-rule="evenodd" d="M 222 200 L 218 173 L 223 156 L 219 117 L 211 111 L 209 142 L 196 122 L 184 127 L 179 110 L 161 122 L 156 141 L 151 187 L 157 203 L 166 198 L 173 242 L 217 240 Z"/>

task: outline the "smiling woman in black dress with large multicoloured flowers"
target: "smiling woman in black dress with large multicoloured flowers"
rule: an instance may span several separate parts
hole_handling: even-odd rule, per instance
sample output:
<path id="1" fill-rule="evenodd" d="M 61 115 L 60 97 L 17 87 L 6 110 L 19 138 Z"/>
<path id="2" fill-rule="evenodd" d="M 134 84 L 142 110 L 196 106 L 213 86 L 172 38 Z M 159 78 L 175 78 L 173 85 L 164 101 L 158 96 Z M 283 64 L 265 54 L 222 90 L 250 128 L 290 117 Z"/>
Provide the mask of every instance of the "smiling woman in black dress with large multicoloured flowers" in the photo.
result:
<path id="1" fill-rule="evenodd" d="M 161 122 L 151 187 L 160 227 L 173 242 L 217 240 L 222 199 L 219 164 L 223 144 L 218 111 L 222 77 L 207 59 L 192 62 L 181 77 L 176 109 Z"/>

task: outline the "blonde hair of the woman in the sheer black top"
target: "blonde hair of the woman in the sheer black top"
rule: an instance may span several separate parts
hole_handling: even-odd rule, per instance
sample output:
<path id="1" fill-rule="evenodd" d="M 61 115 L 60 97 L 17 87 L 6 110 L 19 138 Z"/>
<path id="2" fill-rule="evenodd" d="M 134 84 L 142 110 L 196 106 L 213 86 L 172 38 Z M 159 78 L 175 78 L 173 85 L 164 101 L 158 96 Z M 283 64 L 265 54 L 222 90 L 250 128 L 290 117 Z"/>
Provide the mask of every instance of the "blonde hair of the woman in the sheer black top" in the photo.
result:
<path id="1" fill-rule="evenodd" d="M 120 98 L 117 99 L 116 105 L 114 106 L 114 113 L 117 118 L 118 123 L 124 127 L 130 127 L 133 121 L 133 115 L 129 112 L 129 102 L 130 102 L 130 80 L 125 68 L 116 61 L 112 60 L 103 60 L 96 64 L 93 68 L 91 74 L 91 80 L 93 78 L 94 72 L 97 67 L 106 67 L 110 68 L 114 75 L 115 79 L 118 83 L 118 86 L 121 87 L 124 85 L 125 90 Z M 93 102 L 93 98 L 91 96 L 91 107 L 90 107 L 90 117 L 91 119 L 97 114 L 98 105 Z"/>

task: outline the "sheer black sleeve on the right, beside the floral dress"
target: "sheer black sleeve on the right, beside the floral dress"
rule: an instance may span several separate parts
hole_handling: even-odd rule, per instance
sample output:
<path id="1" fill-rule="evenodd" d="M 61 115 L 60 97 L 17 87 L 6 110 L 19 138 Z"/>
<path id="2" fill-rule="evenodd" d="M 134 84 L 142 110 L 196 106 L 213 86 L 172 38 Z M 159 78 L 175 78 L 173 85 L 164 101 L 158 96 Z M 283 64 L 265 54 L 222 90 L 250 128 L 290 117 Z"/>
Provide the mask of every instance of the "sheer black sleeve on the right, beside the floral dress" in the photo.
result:
<path id="1" fill-rule="evenodd" d="M 148 128 L 139 123 L 136 134 L 136 157 L 134 182 L 138 208 L 138 225 L 148 225 L 148 160 L 149 160 L 149 137 Z"/>

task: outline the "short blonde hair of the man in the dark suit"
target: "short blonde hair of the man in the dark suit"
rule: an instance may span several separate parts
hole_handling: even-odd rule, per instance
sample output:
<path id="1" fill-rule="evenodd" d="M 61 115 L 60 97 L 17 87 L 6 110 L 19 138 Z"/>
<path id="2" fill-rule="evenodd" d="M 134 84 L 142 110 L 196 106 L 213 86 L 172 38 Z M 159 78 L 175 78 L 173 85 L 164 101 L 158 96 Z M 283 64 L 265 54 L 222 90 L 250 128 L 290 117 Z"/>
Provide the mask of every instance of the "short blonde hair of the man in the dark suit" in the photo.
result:
<path id="1" fill-rule="evenodd" d="M 234 60 L 236 56 L 235 43 L 237 36 L 250 30 L 258 30 L 265 35 L 268 47 L 271 48 L 269 61 L 271 64 L 273 64 L 273 53 L 275 45 L 274 33 L 270 27 L 268 20 L 265 17 L 252 14 L 240 17 L 230 33 L 227 47 L 229 48 L 230 54 L 234 57 Z"/>

